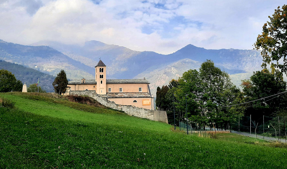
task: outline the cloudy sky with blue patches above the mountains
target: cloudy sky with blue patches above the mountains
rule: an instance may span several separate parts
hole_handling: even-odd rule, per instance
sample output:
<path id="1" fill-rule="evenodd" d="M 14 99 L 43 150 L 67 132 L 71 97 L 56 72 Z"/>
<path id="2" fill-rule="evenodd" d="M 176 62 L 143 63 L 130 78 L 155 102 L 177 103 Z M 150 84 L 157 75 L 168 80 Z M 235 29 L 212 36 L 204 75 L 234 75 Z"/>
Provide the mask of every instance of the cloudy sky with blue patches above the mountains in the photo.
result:
<path id="1" fill-rule="evenodd" d="M 84 45 L 89 40 L 131 50 L 173 53 L 253 49 L 268 16 L 286 1 L 265 0 L 0 0 L 0 39 Z"/>

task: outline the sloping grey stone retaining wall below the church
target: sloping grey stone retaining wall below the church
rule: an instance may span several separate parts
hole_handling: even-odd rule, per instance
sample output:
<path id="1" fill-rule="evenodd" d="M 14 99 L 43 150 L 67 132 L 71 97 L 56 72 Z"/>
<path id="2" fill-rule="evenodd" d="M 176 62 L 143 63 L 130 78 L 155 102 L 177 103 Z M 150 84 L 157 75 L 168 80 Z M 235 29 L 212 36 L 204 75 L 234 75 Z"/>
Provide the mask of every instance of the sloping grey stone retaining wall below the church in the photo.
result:
<path id="1" fill-rule="evenodd" d="M 115 102 L 108 101 L 106 97 L 97 95 L 96 91 L 70 91 L 70 95 L 89 96 L 106 107 L 124 111 L 128 115 L 168 123 L 166 111 L 149 110 L 130 105 L 118 105 Z"/>

